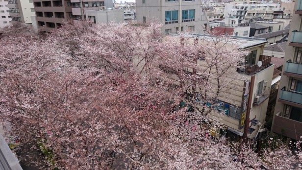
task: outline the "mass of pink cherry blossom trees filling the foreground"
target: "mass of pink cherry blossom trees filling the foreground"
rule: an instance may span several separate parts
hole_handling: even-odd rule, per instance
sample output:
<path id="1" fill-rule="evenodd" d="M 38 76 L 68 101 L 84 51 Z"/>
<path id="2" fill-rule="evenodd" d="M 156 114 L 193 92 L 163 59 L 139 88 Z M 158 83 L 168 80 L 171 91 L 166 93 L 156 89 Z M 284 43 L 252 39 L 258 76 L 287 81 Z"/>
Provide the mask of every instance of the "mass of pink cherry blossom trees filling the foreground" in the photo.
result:
<path id="1" fill-rule="evenodd" d="M 43 39 L 4 36 L 0 115 L 10 133 L 67 170 L 299 169 L 299 143 L 258 155 L 208 135 L 220 125 L 204 116 L 211 108 L 179 106 L 217 99 L 247 52 L 227 38 L 162 37 L 160 26 L 65 24 Z"/>

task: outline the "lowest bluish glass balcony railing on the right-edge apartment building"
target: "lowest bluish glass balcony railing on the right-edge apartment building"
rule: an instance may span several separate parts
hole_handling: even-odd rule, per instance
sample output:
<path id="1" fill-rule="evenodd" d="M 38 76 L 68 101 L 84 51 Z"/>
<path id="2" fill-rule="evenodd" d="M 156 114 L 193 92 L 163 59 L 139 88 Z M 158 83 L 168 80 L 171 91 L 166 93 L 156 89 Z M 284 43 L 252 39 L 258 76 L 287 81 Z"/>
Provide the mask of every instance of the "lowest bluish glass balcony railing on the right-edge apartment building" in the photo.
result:
<path id="1" fill-rule="evenodd" d="M 302 104 L 302 93 L 293 90 L 287 91 L 285 87 L 283 87 L 280 91 L 280 99 L 291 103 Z"/>

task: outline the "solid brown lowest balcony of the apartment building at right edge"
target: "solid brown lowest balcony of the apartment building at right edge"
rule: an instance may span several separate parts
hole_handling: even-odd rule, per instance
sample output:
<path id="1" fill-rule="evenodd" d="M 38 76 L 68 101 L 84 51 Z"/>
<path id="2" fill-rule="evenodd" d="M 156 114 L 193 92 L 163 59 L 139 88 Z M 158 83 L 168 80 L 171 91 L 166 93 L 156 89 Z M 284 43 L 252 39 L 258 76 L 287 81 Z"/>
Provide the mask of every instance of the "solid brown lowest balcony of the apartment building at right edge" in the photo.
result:
<path id="1" fill-rule="evenodd" d="M 272 131 L 299 140 L 302 136 L 302 122 L 282 117 L 282 113 L 278 112 L 274 118 Z"/>

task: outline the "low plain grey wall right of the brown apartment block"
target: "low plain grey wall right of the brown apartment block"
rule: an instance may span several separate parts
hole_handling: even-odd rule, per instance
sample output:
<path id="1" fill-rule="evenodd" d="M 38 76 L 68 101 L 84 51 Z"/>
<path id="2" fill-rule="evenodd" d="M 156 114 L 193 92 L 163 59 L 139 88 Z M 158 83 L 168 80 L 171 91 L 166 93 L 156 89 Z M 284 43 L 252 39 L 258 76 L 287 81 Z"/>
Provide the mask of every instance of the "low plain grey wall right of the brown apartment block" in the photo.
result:
<path id="1" fill-rule="evenodd" d="M 86 11 L 86 20 L 89 21 L 89 16 L 96 17 L 96 24 L 98 23 L 110 23 L 115 21 L 116 23 L 124 22 L 124 10 L 103 10 L 103 11 Z"/>

